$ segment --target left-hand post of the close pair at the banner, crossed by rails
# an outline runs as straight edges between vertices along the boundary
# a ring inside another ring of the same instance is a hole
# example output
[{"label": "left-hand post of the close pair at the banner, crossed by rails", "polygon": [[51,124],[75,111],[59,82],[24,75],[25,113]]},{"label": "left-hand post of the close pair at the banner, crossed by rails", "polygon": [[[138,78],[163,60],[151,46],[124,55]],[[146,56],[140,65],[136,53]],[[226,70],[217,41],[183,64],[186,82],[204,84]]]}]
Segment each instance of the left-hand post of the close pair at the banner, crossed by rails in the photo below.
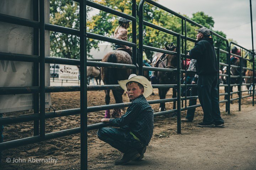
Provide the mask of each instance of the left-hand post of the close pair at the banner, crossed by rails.
[{"label": "left-hand post of the close pair at the banner, crossed by rails", "polygon": [[[38,16],[38,0],[33,1],[33,20],[39,21]],[[38,28],[33,29],[33,55],[39,55],[39,30]],[[33,86],[39,86],[39,64],[33,63]],[[33,109],[34,113],[39,113],[39,94],[33,94]],[[34,132],[33,135],[39,135],[39,120],[34,120]]]}]

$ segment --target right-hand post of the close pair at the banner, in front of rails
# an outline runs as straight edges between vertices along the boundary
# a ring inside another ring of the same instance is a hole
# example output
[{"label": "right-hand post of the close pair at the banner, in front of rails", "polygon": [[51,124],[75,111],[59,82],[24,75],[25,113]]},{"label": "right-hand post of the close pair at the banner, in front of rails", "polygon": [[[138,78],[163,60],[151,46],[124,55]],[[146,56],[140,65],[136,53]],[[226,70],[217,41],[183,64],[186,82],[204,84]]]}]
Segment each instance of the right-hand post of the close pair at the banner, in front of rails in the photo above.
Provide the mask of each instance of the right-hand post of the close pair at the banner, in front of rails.
[{"label": "right-hand post of the close pair at the banner, in front of rails", "polygon": [[45,54],[44,54],[44,0],[39,0],[40,28],[40,137],[45,137]]}]

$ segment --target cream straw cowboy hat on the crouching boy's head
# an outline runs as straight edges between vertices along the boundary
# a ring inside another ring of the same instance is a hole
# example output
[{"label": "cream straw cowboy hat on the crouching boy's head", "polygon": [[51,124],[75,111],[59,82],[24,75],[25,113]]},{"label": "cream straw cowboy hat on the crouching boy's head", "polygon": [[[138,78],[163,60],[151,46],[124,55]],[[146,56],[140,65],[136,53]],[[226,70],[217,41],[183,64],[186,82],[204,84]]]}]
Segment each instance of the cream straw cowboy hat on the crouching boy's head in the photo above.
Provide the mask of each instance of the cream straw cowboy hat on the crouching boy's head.
[{"label": "cream straw cowboy hat on the crouching boy's head", "polygon": [[147,98],[153,93],[153,87],[151,86],[149,80],[141,75],[131,74],[127,80],[119,80],[118,84],[121,86],[121,88],[124,91],[127,91],[126,84],[130,81],[135,81],[137,83],[140,83],[144,87],[144,93],[143,96]]}]

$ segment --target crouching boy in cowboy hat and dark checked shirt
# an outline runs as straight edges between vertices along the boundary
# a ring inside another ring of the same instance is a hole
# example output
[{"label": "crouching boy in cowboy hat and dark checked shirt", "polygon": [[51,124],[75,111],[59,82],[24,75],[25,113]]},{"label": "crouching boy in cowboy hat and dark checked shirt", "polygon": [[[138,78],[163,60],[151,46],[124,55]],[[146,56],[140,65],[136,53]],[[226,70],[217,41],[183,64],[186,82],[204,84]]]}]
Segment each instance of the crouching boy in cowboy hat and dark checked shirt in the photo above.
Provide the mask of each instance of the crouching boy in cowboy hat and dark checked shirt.
[{"label": "crouching boy in cowboy hat and dark checked shirt", "polygon": [[116,165],[125,165],[132,160],[138,161],[144,157],[146,146],[153,135],[154,111],[146,101],[153,92],[148,79],[131,74],[128,80],[120,80],[118,84],[132,100],[127,112],[120,118],[101,119],[101,122],[121,128],[101,128],[97,132],[100,140],[124,153]]}]

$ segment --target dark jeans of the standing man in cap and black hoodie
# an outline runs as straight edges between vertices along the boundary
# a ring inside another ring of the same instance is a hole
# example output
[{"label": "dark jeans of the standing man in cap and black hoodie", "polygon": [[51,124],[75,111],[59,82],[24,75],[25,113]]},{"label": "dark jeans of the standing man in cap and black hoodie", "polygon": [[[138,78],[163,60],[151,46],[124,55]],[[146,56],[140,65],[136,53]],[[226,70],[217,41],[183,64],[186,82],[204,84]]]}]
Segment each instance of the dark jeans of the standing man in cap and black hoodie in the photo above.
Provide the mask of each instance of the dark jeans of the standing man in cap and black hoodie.
[{"label": "dark jeans of the standing man in cap and black hoodie", "polygon": [[220,117],[217,84],[217,75],[199,75],[198,77],[198,98],[203,108],[205,123],[224,123]]}]

